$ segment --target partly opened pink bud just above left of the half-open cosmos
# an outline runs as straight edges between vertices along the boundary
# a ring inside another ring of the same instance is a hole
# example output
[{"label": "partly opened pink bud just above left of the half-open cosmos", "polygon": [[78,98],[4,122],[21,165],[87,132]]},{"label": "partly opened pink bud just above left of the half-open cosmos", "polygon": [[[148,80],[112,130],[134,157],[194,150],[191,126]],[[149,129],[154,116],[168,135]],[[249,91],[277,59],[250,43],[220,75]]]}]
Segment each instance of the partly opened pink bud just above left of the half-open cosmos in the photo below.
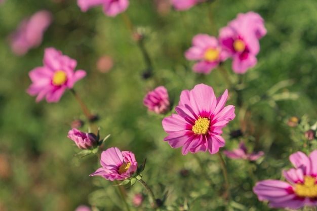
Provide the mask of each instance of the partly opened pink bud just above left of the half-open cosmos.
[{"label": "partly opened pink bud just above left of the half-open cosmos", "polygon": [[78,148],[89,149],[98,144],[98,140],[93,133],[83,133],[77,129],[72,129],[68,132],[68,138],[73,140]]}]

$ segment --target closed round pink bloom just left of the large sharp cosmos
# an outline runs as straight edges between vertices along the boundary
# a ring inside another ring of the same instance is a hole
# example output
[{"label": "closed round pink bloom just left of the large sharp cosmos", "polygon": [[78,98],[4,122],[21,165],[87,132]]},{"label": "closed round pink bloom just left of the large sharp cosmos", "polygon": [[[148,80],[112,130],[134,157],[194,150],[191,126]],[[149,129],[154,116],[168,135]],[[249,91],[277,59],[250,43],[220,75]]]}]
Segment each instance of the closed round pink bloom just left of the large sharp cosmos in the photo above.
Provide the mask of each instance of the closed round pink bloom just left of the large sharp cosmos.
[{"label": "closed round pink bloom just left of the large sharp cosmos", "polygon": [[165,87],[160,86],[147,93],[143,99],[143,104],[149,111],[157,114],[166,113],[170,109],[169,94]]}]

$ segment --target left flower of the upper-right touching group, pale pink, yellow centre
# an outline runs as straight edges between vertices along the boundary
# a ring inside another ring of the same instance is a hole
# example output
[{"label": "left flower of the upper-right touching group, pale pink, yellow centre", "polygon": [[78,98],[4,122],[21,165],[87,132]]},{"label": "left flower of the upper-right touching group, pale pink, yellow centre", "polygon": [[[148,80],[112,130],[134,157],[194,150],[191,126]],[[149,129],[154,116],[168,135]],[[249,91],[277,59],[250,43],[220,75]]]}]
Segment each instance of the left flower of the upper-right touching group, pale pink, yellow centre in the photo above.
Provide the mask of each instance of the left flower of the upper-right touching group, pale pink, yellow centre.
[{"label": "left flower of the upper-right touching group, pale pink, yellow centre", "polygon": [[208,74],[228,58],[228,53],[221,51],[218,40],[208,34],[197,34],[192,38],[192,47],[185,52],[188,60],[199,60],[192,67],[193,71]]}]

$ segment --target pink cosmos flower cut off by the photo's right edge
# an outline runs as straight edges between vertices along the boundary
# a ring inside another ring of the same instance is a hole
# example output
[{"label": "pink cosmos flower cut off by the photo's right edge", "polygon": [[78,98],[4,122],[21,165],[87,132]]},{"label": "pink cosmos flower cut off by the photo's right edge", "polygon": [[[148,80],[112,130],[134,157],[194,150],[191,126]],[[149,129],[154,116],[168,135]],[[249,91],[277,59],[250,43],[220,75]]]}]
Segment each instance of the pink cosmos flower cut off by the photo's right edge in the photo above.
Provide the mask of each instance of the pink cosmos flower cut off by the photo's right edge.
[{"label": "pink cosmos flower cut off by the photo's right edge", "polygon": [[269,201],[274,208],[299,209],[304,206],[317,206],[317,150],[309,157],[303,152],[291,154],[290,161],[295,166],[283,171],[287,182],[264,180],[257,182],[253,192],[260,201]]}]

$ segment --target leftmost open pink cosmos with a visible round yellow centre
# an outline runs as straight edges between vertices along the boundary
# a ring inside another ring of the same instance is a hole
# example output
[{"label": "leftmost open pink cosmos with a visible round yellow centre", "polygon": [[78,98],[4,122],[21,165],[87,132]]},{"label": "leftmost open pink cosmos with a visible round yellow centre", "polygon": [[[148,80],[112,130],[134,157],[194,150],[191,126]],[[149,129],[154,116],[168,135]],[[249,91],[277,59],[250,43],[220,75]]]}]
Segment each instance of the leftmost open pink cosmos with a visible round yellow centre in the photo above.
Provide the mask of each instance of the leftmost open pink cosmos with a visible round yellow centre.
[{"label": "leftmost open pink cosmos with a visible round yellow centre", "polygon": [[72,89],[77,80],[86,76],[84,70],[74,68],[76,60],[62,55],[54,48],[45,49],[43,67],[35,67],[29,72],[32,84],[27,89],[27,93],[36,97],[36,102],[43,100],[58,102],[66,89]]}]

